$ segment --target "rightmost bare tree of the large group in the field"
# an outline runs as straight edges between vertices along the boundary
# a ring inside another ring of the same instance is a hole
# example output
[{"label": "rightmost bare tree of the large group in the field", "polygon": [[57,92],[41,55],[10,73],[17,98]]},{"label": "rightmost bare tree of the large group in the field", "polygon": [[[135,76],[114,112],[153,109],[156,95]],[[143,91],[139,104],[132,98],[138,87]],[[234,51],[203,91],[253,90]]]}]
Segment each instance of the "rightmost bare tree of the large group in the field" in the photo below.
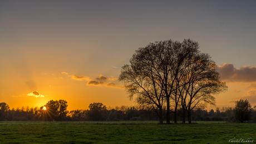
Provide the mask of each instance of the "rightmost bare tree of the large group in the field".
[{"label": "rightmost bare tree of the large group in the field", "polygon": [[179,90],[181,105],[188,112],[189,123],[191,123],[191,111],[195,107],[215,105],[213,95],[227,90],[225,82],[220,81],[219,73],[216,71],[217,66],[209,54],[197,53],[190,61],[181,82],[183,87]]}]

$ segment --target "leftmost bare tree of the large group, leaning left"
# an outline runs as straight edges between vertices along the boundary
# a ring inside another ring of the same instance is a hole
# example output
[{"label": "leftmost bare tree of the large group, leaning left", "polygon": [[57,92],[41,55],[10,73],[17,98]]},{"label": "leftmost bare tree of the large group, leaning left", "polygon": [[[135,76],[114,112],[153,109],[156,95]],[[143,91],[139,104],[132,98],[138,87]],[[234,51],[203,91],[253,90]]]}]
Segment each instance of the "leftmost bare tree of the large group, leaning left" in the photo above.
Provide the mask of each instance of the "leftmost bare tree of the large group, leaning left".
[{"label": "leftmost bare tree of the large group, leaning left", "polygon": [[157,115],[159,116],[160,123],[163,123],[163,90],[155,80],[152,71],[149,71],[151,72],[151,76],[145,76],[136,66],[139,65],[136,65],[132,61],[131,66],[127,64],[123,66],[119,81],[125,82],[125,88],[130,94],[130,100],[132,100],[134,95],[137,95],[135,101],[139,103],[140,106],[154,108],[155,111],[157,107],[159,110]]}]

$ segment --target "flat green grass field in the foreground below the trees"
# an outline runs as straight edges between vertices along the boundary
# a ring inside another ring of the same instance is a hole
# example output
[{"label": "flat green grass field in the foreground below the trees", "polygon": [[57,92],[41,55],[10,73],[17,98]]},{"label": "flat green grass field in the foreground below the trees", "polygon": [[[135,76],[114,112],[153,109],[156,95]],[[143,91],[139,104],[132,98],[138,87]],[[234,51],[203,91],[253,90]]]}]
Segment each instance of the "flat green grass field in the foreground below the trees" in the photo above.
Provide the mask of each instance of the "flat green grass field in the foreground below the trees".
[{"label": "flat green grass field in the foreground below the trees", "polygon": [[255,143],[255,129],[225,122],[0,122],[0,143]]}]

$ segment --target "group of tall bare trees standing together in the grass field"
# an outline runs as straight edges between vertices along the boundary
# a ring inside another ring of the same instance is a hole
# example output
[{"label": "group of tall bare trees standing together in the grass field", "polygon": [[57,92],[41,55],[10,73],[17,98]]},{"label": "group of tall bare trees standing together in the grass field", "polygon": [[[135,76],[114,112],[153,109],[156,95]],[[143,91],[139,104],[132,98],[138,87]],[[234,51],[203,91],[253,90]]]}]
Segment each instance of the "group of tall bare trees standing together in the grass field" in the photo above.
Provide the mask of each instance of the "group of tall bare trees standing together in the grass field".
[{"label": "group of tall bare trees standing together in the grass field", "polygon": [[191,39],[160,41],[137,49],[121,69],[119,81],[132,99],[140,106],[157,112],[163,123],[163,108],[166,108],[166,123],[170,112],[183,109],[183,123],[191,123],[191,111],[196,107],[215,105],[214,95],[227,90],[220,81],[216,64],[209,54],[199,51],[198,42]]}]

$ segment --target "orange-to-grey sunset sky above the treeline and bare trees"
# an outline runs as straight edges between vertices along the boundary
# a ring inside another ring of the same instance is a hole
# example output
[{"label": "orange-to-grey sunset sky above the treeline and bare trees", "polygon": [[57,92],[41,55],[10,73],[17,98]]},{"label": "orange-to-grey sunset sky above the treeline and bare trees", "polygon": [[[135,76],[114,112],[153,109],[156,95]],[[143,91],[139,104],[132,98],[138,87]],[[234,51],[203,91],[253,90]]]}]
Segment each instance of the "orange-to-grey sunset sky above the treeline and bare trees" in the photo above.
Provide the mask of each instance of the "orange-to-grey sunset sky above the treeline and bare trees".
[{"label": "orange-to-grey sunset sky above the treeline and bare trees", "polygon": [[0,102],[133,106],[121,67],[150,42],[193,39],[228,91],[216,107],[256,105],[256,1],[0,1]]}]

